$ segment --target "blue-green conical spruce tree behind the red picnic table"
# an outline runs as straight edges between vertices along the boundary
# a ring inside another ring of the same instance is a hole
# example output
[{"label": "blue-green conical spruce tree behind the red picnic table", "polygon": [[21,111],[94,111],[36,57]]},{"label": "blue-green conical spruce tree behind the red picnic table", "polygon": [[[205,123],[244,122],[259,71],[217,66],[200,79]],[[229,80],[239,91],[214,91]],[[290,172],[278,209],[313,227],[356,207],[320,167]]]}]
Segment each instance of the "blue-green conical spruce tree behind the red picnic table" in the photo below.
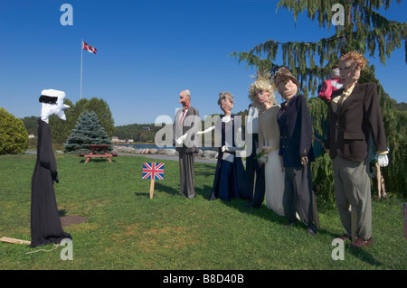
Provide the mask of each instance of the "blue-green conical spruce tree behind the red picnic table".
[{"label": "blue-green conical spruce tree behind the red picnic table", "polygon": [[91,111],[85,110],[79,117],[75,128],[65,144],[65,153],[90,153],[89,144],[109,144],[108,152],[112,146],[105,129],[99,124],[99,118]]}]

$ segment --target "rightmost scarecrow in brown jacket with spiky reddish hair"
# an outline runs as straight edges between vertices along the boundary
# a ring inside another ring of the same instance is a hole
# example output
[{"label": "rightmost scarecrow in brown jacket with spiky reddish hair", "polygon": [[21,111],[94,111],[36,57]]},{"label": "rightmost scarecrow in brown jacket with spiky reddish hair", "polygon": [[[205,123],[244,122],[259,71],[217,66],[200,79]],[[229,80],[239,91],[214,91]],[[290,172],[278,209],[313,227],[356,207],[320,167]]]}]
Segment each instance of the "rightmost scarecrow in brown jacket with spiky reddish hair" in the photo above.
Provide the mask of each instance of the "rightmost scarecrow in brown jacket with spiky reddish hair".
[{"label": "rightmost scarecrow in brown jacket with spiky reddish hair", "polygon": [[387,144],[382,113],[374,83],[359,84],[360,72],[367,60],[356,51],[343,55],[339,70],[344,87],[333,92],[329,105],[326,149],[335,176],[336,206],[345,235],[351,239],[351,213],[356,212],[356,240],[351,246],[373,243],[372,203],[369,178],[368,142],[372,135],[378,163],[387,166]]}]

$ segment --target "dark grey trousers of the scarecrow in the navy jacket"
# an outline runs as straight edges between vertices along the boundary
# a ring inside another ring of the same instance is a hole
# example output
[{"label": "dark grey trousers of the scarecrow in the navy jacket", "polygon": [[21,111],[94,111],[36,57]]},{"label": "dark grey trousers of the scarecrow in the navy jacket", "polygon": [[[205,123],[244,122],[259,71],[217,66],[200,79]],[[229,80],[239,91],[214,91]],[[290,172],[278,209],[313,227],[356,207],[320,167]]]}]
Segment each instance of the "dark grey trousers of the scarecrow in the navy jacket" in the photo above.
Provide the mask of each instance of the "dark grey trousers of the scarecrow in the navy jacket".
[{"label": "dark grey trousers of the scarecrow in the navy jacket", "polygon": [[297,221],[296,211],[305,225],[312,225],[312,174],[311,165],[285,167],[283,206],[289,222]]}]

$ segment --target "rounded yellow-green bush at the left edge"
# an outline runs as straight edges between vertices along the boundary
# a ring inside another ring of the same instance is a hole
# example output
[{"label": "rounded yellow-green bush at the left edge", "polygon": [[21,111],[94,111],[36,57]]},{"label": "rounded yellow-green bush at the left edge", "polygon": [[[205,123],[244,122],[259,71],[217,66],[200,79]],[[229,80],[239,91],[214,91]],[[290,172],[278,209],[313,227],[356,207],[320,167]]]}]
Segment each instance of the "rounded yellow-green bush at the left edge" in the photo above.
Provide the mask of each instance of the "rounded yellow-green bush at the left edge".
[{"label": "rounded yellow-green bush at the left edge", "polygon": [[23,120],[0,107],[0,154],[24,153],[28,146],[28,133]]}]

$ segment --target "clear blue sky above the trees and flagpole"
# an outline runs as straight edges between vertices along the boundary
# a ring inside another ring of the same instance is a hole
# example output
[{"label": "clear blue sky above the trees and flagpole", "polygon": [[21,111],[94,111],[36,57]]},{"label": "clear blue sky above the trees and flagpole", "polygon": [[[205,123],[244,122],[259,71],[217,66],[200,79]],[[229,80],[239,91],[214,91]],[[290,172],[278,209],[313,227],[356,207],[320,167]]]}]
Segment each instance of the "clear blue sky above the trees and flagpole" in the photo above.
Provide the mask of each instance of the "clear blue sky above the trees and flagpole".
[{"label": "clear blue sky above the trees and flagpole", "polygon": [[[73,25],[63,26],[62,4],[73,8]],[[83,51],[82,98],[103,98],[115,125],[154,123],[174,117],[178,95],[192,93],[202,118],[221,113],[218,94],[230,91],[232,112],[250,104],[254,70],[229,57],[267,40],[317,41],[333,30],[319,28],[306,15],[295,25],[278,1],[264,0],[41,0],[0,2],[0,107],[17,117],[40,116],[45,88],[80,99],[80,42]],[[406,1],[383,12],[405,22]],[[383,66],[369,61],[376,77],[398,102],[407,101],[402,49]],[[278,63],[281,64],[281,63]]]}]

